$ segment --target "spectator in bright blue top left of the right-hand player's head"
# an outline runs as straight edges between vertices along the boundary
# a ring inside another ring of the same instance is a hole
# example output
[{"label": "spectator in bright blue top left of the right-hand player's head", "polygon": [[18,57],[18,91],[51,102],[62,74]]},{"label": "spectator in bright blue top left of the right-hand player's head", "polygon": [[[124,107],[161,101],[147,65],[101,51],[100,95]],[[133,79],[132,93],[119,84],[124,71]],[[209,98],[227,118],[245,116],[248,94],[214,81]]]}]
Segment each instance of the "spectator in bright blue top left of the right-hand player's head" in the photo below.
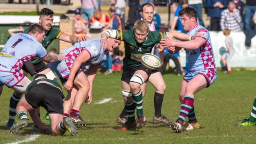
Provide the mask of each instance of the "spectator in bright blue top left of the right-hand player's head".
[{"label": "spectator in bright blue top left of the right-hand player's head", "polygon": [[171,5],[171,10],[174,13],[174,19],[173,19],[172,24],[171,24],[171,30],[175,30],[177,22],[178,22],[178,29],[177,30],[179,30],[179,31],[184,30],[183,26],[181,24],[180,16],[179,16],[179,12],[180,12],[181,9],[182,9],[182,7],[179,6],[178,3],[173,3]]}]

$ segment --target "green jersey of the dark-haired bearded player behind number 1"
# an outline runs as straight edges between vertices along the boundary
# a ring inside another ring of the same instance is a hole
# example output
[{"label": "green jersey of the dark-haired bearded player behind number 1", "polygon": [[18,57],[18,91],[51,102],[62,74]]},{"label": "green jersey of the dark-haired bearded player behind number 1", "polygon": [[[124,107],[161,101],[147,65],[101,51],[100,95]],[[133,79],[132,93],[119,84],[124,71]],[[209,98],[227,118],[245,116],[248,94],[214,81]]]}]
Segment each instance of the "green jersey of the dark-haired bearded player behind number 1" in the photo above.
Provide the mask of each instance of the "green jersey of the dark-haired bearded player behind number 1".
[{"label": "green jersey of the dark-haired bearded player behind number 1", "polygon": [[[28,34],[29,28],[27,28],[24,33]],[[55,39],[58,39],[60,35],[63,34],[63,32],[57,28],[51,28],[48,32],[46,32],[44,36],[44,40],[41,42],[41,44],[44,46],[45,49],[51,44],[51,42]],[[33,64],[38,64],[42,62],[40,58],[35,58],[31,60]]]}]

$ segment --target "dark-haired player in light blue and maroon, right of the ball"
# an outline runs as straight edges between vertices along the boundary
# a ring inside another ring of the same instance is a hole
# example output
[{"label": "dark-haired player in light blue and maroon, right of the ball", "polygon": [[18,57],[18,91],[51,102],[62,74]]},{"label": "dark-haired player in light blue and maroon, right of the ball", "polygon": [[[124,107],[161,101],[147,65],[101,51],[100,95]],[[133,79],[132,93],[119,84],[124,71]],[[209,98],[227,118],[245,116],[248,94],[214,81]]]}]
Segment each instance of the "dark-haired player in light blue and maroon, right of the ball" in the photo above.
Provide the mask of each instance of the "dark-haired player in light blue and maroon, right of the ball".
[{"label": "dark-haired player in light blue and maroon, right of the ball", "polygon": [[[217,78],[215,57],[212,48],[209,31],[197,23],[197,12],[194,8],[186,7],[180,10],[179,16],[185,34],[196,36],[191,41],[174,41],[163,39],[160,43],[170,52],[177,53],[184,48],[190,63],[190,69],[184,76],[180,89],[180,114],[174,124],[170,125],[172,130],[182,132],[184,130],[194,130],[200,128],[200,124],[194,113],[194,94],[203,88],[209,87]],[[188,116],[188,122],[184,125],[184,120]]]}]

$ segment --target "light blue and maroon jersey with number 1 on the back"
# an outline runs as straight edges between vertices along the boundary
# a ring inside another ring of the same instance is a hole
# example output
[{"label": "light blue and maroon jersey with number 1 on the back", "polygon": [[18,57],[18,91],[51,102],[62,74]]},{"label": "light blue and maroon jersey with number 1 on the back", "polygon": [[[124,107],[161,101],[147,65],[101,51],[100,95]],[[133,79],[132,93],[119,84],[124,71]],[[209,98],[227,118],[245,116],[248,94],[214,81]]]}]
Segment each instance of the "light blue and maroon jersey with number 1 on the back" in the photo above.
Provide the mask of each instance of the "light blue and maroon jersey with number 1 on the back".
[{"label": "light blue and maroon jersey with number 1 on the back", "polygon": [[0,71],[16,72],[34,57],[44,58],[45,48],[30,34],[14,34],[0,52]]}]

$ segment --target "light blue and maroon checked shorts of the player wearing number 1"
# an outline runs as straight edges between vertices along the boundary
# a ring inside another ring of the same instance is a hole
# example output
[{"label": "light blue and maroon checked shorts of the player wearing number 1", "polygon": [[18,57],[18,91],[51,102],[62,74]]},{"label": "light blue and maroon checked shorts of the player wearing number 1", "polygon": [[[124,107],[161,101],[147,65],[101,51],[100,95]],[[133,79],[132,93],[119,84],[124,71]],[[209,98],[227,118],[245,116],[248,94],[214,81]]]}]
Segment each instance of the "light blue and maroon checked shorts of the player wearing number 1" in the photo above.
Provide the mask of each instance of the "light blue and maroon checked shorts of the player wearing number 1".
[{"label": "light blue and maroon checked shorts of the player wearing number 1", "polygon": [[0,71],[0,85],[6,85],[16,92],[25,92],[31,81],[20,71],[5,72]]}]

